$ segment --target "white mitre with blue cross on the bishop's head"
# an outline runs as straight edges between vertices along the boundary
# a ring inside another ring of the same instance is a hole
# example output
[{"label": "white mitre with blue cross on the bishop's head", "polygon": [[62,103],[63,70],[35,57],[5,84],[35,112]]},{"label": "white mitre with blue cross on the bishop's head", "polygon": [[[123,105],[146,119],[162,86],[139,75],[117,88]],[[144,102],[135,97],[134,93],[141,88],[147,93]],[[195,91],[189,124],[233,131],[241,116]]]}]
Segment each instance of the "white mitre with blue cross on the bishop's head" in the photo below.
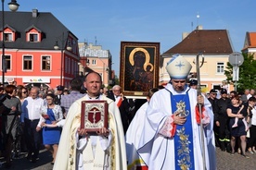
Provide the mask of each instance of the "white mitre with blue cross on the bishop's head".
[{"label": "white mitre with blue cross on the bishop's head", "polygon": [[173,55],[165,68],[171,79],[186,79],[192,66],[182,55]]}]

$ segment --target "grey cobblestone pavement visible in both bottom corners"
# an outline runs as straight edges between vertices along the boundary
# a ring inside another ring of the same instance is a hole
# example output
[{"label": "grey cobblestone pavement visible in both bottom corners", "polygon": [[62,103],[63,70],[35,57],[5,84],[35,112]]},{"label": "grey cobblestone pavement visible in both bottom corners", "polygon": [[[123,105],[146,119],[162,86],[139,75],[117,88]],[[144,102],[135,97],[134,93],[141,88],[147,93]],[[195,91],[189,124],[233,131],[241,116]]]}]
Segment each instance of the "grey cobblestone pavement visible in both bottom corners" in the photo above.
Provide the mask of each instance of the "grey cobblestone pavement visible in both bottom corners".
[{"label": "grey cobblestone pavement visible in both bottom corners", "polygon": [[[235,155],[231,155],[228,152],[222,152],[219,148],[216,148],[216,160],[218,170],[254,170],[256,169],[256,154],[247,153],[250,158],[244,158],[237,152]],[[39,154],[40,160],[36,163],[30,163],[25,155],[21,156],[19,159],[14,159],[12,161],[11,170],[51,170],[53,165],[50,164],[52,157],[50,152],[42,150]],[[0,161],[3,162],[4,158]],[[6,169],[4,167],[0,169]]]}]

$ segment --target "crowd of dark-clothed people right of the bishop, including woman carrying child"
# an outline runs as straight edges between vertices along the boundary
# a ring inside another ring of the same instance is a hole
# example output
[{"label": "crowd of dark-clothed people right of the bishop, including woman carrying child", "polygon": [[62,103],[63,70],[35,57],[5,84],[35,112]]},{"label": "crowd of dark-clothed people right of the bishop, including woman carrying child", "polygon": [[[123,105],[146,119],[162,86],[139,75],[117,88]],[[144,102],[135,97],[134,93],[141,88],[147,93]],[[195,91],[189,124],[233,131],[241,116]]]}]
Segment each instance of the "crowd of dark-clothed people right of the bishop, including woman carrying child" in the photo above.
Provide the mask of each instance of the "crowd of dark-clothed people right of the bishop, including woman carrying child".
[{"label": "crowd of dark-clothed people right of the bishop, including woman carrying child", "polygon": [[[220,94],[220,97],[216,97]],[[211,90],[209,101],[214,113],[215,145],[223,152],[235,152],[245,158],[256,153],[256,95],[253,89],[242,92]]]}]

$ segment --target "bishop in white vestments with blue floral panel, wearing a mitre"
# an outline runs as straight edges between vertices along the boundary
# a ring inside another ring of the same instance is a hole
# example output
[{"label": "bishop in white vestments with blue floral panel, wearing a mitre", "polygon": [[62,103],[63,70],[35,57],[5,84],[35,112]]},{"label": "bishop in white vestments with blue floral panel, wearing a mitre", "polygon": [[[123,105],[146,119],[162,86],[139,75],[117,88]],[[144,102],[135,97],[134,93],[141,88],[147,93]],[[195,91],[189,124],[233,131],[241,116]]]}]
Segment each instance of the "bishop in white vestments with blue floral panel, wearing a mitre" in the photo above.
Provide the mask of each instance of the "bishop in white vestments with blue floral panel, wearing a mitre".
[{"label": "bishop in white vestments with blue floral panel, wearing a mitre", "polygon": [[[147,106],[138,153],[149,170],[216,169],[211,103],[187,86],[191,67],[181,55],[173,55],[166,67],[170,83],[157,91]],[[202,105],[201,118],[198,103]]]}]

